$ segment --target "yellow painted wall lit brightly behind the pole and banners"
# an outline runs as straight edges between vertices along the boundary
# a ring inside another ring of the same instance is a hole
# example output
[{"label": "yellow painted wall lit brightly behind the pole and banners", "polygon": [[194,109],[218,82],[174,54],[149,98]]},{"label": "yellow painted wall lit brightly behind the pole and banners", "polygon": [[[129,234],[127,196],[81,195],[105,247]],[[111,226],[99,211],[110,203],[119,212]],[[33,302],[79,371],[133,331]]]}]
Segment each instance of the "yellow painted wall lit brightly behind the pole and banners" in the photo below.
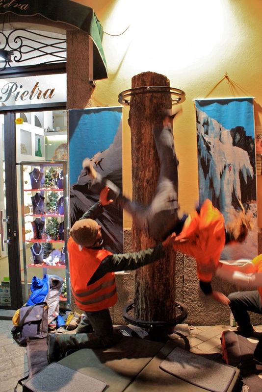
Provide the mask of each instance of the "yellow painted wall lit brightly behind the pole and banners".
[{"label": "yellow painted wall lit brightly behind the pole and banners", "polygon": [[[131,88],[132,76],[147,71],[166,75],[171,87],[185,92],[183,115],[174,121],[174,139],[180,161],[179,202],[183,211],[190,211],[198,201],[193,100],[255,97],[255,125],[262,125],[262,0],[77,2],[94,9],[105,31],[109,78],[97,81],[93,106],[119,105],[118,94]],[[226,73],[233,88],[224,78]],[[131,196],[128,116],[129,107],[124,106],[123,189]],[[262,176],[258,176],[258,207],[262,227]],[[124,225],[131,227],[128,216]]]}]

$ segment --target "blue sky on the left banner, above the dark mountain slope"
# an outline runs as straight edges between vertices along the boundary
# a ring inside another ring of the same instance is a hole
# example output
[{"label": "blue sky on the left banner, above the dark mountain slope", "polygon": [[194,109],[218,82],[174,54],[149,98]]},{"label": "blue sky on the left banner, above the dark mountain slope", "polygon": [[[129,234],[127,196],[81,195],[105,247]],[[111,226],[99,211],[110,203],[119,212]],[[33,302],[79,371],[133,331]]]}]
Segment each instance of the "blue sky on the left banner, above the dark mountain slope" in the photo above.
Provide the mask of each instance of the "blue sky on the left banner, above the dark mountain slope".
[{"label": "blue sky on the left banner, above the dark mountain slope", "polygon": [[108,148],[122,118],[122,106],[69,110],[70,184],[78,180],[84,158]]}]

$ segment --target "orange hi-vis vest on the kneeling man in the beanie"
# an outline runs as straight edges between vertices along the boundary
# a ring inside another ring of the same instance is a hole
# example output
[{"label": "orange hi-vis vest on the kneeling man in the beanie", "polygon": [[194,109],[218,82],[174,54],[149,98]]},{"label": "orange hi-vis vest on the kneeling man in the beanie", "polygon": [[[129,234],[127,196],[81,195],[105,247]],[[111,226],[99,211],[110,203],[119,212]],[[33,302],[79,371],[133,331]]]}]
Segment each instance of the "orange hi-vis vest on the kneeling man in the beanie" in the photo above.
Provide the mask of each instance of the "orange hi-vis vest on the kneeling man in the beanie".
[{"label": "orange hi-vis vest on the kneeling man in the beanie", "polygon": [[115,305],[117,301],[115,274],[106,273],[101,279],[87,283],[106,256],[112,254],[105,249],[91,249],[79,245],[72,237],[67,243],[71,289],[79,309],[95,312]]}]

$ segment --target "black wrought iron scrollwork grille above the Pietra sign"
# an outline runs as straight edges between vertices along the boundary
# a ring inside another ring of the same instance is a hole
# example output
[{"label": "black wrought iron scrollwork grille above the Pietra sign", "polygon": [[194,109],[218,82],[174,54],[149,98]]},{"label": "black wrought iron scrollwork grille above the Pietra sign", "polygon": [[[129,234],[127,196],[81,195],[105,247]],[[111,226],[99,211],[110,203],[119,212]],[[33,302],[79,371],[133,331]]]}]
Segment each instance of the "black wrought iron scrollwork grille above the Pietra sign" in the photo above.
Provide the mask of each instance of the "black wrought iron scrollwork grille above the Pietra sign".
[{"label": "black wrought iron scrollwork grille above the Pietra sign", "polygon": [[0,72],[21,65],[52,64],[66,61],[66,35],[16,29],[0,32],[0,50],[9,52],[0,59]]}]

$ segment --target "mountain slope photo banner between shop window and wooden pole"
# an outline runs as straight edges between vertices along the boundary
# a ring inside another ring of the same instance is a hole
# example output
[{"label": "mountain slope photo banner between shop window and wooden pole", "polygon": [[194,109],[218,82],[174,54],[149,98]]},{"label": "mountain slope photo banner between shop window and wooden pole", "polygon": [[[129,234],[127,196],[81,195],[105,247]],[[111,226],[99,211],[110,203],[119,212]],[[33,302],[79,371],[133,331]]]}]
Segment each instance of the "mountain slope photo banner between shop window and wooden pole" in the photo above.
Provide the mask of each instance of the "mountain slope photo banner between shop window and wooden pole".
[{"label": "mountain slope photo banner between shop window and wooden pole", "polygon": [[[69,110],[69,185],[71,226],[97,201],[90,191],[91,177],[82,162],[90,158],[94,169],[122,191],[122,107]],[[123,253],[123,213],[106,206],[98,217],[105,248]]]}]

